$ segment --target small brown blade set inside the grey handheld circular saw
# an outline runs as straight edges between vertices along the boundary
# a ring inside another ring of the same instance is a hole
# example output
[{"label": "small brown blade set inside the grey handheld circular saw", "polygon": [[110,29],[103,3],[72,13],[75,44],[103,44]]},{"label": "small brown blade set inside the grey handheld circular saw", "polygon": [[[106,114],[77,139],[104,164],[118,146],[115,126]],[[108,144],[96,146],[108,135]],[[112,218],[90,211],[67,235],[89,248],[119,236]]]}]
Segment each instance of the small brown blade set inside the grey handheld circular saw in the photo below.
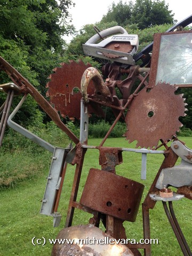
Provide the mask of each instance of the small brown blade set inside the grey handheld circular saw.
[{"label": "small brown blade set inside the grey handheld circular saw", "polygon": [[[105,49],[129,53],[133,50],[134,46],[130,42],[110,42],[105,46]],[[112,53],[102,52],[102,54],[108,58],[118,58],[119,56]]]}]

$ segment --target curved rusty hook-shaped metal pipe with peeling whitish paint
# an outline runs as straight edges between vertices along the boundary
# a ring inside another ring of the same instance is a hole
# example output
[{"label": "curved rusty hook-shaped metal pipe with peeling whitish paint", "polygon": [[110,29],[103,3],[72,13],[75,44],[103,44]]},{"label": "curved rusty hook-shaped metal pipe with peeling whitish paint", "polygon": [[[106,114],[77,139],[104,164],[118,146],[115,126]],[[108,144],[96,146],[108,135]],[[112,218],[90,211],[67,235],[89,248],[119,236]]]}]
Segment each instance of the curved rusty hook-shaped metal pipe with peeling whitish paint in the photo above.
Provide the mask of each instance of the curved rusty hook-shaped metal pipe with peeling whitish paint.
[{"label": "curved rusty hook-shaped metal pipe with peeling whitish paint", "polygon": [[99,74],[99,71],[96,68],[89,67],[84,71],[81,79],[81,93],[86,103],[89,102],[87,87],[91,80],[93,80],[95,87],[94,95],[97,95],[97,98],[105,99],[106,97],[110,97],[109,88],[107,87],[107,85],[104,84],[103,79]]}]

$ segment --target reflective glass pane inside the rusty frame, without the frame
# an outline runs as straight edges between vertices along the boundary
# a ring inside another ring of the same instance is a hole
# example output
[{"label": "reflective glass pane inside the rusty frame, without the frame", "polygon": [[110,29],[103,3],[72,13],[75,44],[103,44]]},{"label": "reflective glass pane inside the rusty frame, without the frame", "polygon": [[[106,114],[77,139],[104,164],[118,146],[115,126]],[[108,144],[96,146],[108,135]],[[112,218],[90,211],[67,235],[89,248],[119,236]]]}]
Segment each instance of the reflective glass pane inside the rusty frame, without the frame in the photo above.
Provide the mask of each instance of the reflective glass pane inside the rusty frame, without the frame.
[{"label": "reflective glass pane inside the rusty frame, without the frame", "polygon": [[156,84],[192,84],[192,34],[161,37]]}]

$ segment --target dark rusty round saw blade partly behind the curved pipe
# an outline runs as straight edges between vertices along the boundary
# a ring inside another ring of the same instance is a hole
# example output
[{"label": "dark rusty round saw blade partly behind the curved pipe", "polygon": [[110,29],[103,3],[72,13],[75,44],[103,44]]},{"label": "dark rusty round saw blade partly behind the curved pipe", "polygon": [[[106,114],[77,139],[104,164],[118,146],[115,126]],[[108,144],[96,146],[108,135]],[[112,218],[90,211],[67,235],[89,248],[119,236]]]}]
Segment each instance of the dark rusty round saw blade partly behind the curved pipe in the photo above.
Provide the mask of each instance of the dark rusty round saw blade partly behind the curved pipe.
[{"label": "dark rusty round saw blade partly behind the curved pipe", "polygon": [[[83,61],[61,63],[61,67],[54,68],[54,73],[48,78],[50,81],[46,84],[46,96],[50,98],[50,103],[60,112],[62,117],[68,116],[70,119],[81,117],[81,78],[84,71],[91,67],[90,64],[84,64]],[[87,93],[94,93],[94,85],[90,82]],[[94,109],[88,107],[89,113]]]}]

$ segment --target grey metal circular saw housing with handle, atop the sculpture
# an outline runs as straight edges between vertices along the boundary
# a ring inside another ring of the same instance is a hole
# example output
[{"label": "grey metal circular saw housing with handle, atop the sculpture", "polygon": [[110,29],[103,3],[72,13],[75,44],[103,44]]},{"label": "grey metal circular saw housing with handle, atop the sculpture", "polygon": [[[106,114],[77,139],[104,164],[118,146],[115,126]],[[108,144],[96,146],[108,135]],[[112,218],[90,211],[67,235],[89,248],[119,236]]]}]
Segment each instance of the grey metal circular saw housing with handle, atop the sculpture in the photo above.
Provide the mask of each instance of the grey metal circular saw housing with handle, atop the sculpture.
[{"label": "grey metal circular saw housing with handle, atop the sculpture", "polygon": [[[101,38],[105,39],[99,42]],[[118,43],[127,43],[127,45],[133,46],[132,51],[121,51],[121,47],[117,47],[117,49],[114,47],[114,50],[107,49],[107,45],[111,42],[115,45]],[[83,44],[83,51],[86,55],[91,55],[93,57],[135,65],[133,54],[137,52],[138,46],[138,35],[130,35],[121,26],[115,26],[102,30],[98,34],[92,36],[85,44]],[[107,57],[107,54],[113,55],[113,58]]]}]

